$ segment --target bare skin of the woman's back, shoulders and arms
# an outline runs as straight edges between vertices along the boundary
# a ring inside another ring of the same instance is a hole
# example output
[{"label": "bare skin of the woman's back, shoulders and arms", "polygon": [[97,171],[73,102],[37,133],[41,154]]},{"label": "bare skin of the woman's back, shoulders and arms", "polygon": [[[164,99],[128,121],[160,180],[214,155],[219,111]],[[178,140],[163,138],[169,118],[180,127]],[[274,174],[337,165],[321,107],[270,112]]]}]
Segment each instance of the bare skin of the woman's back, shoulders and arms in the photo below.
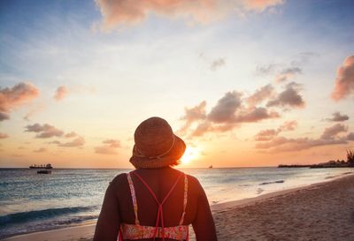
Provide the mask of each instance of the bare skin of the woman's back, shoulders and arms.
[{"label": "bare skin of the woman's back, shoulders and arms", "polygon": [[[165,198],[165,195],[181,175],[181,171],[172,168],[136,169],[135,171],[150,185],[159,201]],[[155,227],[158,203],[138,177],[135,175],[131,175],[131,177],[135,186],[140,224]],[[215,226],[204,190],[195,177],[188,176],[188,182],[188,202],[183,224],[193,225],[196,240],[215,241],[217,240]],[[183,191],[184,182],[183,178],[180,178],[163,206],[165,227],[179,225],[183,212]],[[115,225],[112,225],[112,222]],[[108,187],[101,215],[97,222],[94,240],[117,240],[118,228],[122,222],[135,224],[135,212],[127,182],[127,174],[120,174],[115,177]],[[110,232],[113,232],[114,235],[109,235]],[[101,237],[104,238],[101,239]],[[140,240],[151,240],[151,238]]]}]

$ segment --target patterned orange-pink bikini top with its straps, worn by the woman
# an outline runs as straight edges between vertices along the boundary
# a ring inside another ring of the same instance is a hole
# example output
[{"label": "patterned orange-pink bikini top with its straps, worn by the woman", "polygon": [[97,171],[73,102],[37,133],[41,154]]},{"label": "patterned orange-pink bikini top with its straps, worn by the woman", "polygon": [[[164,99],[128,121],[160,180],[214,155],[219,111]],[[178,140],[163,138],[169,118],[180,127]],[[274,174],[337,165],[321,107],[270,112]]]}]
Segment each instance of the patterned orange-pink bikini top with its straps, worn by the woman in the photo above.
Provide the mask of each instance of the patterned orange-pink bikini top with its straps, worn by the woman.
[{"label": "patterned orange-pink bikini top with its straps, worn by the woman", "polygon": [[[154,198],[154,200],[156,200],[158,204],[158,217],[156,220],[155,227],[140,225],[139,218],[138,218],[138,205],[136,201],[135,188],[133,185],[131,173],[133,173],[135,177],[138,177],[138,179],[142,181],[142,184],[148,189],[151,196]],[[183,197],[183,212],[181,214],[181,220],[178,226],[165,227],[163,206],[165,204],[165,201],[173,192],[175,186],[177,185],[178,181],[181,179],[182,176],[184,176],[184,197]],[[144,179],[142,179],[142,177],[138,175],[135,171],[127,173],[127,182],[129,184],[130,194],[133,200],[135,224],[121,223],[119,227],[119,240],[142,239],[142,238],[154,238],[153,240],[155,240],[156,237],[162,238],[163,241],[165,241],[165,238],[171,238],[175,240],[189,240],[189,226],[183,225],[184,216],[186,215],[186,207],[187,207],[187,200],[188,200],[188,178],[186,174],[181,173],[181,175],[174,182],[170,191],[166,194],[165,199],[162,200],[161,202],[158,200],[156,194],[150,188],[150,185],[148,185],[144,181]]]}]

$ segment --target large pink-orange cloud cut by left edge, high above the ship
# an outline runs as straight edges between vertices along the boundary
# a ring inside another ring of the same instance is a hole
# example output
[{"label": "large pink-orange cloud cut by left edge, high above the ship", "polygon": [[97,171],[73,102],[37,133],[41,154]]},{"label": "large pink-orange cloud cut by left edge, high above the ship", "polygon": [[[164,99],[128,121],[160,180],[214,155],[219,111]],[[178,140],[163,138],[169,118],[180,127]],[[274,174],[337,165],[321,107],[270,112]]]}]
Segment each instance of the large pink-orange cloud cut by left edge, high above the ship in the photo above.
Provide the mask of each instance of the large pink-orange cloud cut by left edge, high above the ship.
[{"label": "large pink-orange cloud cut by left edge, high above the ship", "polygon": [[21,82],[14,87],[0,87],[0,121],[9,119],[12,109],[35,99],[39,90],[31,83]]}]

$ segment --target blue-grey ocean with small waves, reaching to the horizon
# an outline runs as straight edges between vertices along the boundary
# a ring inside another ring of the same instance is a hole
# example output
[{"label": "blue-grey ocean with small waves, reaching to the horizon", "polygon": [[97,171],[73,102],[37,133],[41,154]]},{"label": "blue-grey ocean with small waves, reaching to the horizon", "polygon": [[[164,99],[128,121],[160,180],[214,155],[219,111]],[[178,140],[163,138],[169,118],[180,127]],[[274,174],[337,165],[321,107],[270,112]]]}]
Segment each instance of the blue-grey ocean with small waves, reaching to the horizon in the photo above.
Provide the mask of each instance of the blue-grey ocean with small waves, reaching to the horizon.
[{"label": "blue-grey ocean with small waves, reaching to the horizon", "polygon": [[[113,177],[131,169],[0,169],[0,238],[96,220]],[[182,169],[211,205],[330,180],[353,169]]]}]

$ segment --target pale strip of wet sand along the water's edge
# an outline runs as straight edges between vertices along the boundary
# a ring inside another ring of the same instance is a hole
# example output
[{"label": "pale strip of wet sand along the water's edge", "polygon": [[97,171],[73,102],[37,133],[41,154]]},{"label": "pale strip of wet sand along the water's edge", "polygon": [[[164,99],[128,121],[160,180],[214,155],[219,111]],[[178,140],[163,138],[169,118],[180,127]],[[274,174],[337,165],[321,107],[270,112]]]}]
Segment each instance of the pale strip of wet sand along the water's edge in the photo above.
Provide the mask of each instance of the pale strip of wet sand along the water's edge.
[{"label": "pale strip of wet sand along the water's edge", "polygon": [[[281,191],[268,192],[265,194],[261,194],[257,197],[247,198],[242,200],[230,200],[227,202],[217,203],[211,205],[212,214],[214,215],[214,219],[216,225],[218,226],[218,218],[215,218],[215,215],[224,214],[231,212],[235,209],[242,209],[245,207],[252,207],[256,205],[263,205],[269,200],[277,200],[282,197],[287,197],[289,195],[296,195],[297,192],[307,192],[311,190],[316,190],[321,188],[321,186],[326,184],[335,183],[336,181],[341,181],[346,178],[353,178],[353,172],[342,173],[342,175],[336,177],[330,177],[325,180],[320,181],[319,183],[311,184],[311,185],[301,185],[298,187],[293,187],[289,189],[284,189]],[[354,199],[354,196],[353,196]],[[90,220],[87,222],[81,222],[76,225],[70,225],[61,229],[54,230],[42,230],[38,232],[25,233],[20,235],[15,235],[12,237],[5,237],[1,240],[12,240],[12,241],[24,241],[24,240],[36,240],[36,241],[44,241],[44,240],[53,240],[53,241],[74,241],[74,240],[92,240],[93,234],[95,232],[96,220]],[[190,229],[192,230],[192,229]],[[190,237],[190,240],[194,240],[194,237]]]}]

